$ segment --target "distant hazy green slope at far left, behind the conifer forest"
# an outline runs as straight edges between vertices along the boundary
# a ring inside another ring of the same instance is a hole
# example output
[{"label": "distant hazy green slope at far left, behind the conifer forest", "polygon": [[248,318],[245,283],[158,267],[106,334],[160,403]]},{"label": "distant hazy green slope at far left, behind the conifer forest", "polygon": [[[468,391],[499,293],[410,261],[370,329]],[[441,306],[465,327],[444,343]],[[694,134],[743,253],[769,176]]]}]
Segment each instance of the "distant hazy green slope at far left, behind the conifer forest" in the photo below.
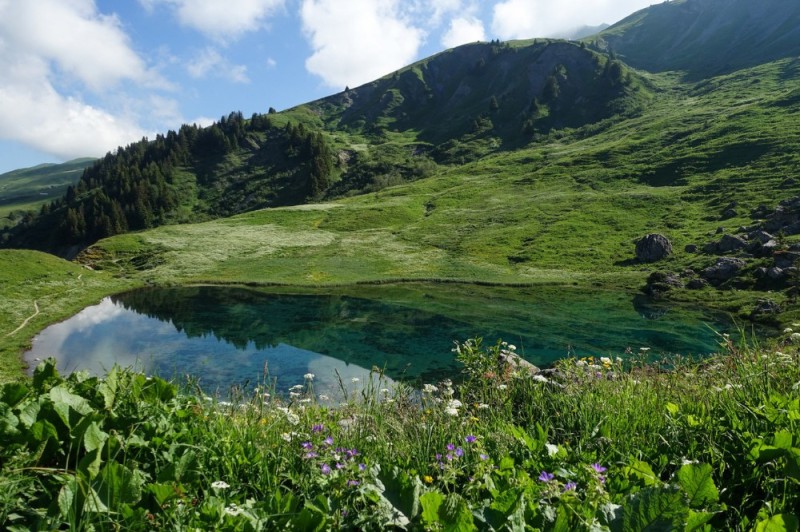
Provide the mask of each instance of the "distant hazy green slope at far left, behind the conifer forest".
[{"label": "distant hazy green slope at far left, behind the conifer forest", "polygon": [[93,161],[85,158],[62,164],[40,164],[0,175],[0,227],[12,225],[24,211],[62,196]]}]

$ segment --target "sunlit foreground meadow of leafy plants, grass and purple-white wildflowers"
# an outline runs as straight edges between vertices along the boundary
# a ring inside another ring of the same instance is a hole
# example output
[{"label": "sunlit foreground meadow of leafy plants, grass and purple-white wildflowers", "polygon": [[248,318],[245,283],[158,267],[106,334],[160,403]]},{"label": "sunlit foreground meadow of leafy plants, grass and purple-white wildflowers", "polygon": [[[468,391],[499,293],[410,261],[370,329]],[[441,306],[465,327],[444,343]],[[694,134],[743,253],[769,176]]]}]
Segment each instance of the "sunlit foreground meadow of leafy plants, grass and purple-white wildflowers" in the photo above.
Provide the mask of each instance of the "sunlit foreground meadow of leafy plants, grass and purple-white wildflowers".
[{"label": "sunlit foreground meadow of leafy plants, grass and purple-white wildflowers", "polygon": [[[789,335],[702,361],[456,347],[453,381],[210,398],[43,362],[0,395],[7,530],[797,530]],[[220,399],[225,399],[224,401]]]}]

